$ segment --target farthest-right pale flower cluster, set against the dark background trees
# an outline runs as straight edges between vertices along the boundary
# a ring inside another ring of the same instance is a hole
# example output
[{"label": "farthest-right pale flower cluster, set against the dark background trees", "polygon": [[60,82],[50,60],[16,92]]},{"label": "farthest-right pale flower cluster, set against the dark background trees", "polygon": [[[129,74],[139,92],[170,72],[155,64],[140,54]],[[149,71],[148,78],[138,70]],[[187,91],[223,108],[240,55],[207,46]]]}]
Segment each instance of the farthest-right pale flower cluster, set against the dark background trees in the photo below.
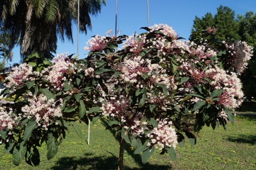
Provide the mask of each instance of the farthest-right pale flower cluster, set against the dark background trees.
[{"label": "farthest-right pale flower cluster, set against the dark background trees", "polygon": [[226,47],[228,64],[231,64],[231,71],[241,74],[246,66],[247,61],[253,56],[253,48],[246,42],[235,41],[233,44],[223,42]]}]

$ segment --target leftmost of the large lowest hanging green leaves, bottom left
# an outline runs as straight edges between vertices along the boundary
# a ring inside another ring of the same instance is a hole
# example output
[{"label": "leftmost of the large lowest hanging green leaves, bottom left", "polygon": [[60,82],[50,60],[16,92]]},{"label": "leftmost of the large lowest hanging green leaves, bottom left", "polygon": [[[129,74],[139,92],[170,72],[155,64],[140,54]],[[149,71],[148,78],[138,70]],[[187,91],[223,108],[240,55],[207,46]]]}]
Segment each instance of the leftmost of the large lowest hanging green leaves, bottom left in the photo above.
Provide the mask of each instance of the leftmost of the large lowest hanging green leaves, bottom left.
[{"label": "leftmost of the large lowest hanging green leaves, bottom left", "polygon": [[21,160],[25,156],[25,153],[27,151],[27,146],[25,145],[25,141],[22,141],[21,143],[17,144],[13,149],[13,164],[19,165],[21,163]]}]

